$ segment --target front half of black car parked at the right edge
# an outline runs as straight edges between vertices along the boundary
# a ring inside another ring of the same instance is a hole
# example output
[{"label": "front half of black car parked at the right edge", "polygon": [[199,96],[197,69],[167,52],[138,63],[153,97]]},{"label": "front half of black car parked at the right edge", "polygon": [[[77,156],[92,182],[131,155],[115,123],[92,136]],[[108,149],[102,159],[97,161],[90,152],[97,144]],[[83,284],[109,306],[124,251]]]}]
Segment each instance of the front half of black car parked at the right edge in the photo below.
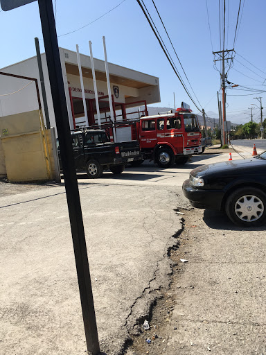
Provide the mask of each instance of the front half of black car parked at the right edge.
[{"label": "front half of black car parked at the right edge", "polygon": [[266,219],[266,151],[251,159],[200,166],[183,193],[193,207],[226,211],[233,223],[251,227]]}]

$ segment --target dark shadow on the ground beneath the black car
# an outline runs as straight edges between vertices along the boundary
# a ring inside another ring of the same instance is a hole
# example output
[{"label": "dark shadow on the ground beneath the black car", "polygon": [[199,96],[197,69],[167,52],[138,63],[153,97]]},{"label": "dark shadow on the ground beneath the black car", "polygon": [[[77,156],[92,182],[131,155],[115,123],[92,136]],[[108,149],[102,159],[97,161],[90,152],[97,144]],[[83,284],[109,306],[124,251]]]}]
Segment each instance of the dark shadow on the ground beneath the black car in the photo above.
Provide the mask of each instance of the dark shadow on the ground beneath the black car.
[{"label": "dark shadow on the ground beneath the black car", "polygon": [[238,227],[238,225],[234,225],[233,222],[231,222],[225,212],[212,211],[210,209],[205,209],[203,220],[206,225],[213,230],[247,230],[251,232],[265,230],[265,225],[260,227]]}]

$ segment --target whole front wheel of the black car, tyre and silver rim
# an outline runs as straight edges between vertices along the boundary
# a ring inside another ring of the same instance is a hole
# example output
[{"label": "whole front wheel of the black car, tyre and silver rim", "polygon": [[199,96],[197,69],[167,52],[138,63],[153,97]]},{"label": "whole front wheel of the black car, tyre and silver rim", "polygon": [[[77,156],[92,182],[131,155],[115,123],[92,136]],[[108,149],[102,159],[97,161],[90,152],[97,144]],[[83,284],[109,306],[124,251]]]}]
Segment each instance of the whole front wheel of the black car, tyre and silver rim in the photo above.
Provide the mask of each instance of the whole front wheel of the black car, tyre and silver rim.
[{"label": "whole front wheel of the black car, tyre and silver rim", "polygon": [[227,198],[225,211],[236,225],[262,225],[266,219],[266,194],[255,187],[242,187]]}]

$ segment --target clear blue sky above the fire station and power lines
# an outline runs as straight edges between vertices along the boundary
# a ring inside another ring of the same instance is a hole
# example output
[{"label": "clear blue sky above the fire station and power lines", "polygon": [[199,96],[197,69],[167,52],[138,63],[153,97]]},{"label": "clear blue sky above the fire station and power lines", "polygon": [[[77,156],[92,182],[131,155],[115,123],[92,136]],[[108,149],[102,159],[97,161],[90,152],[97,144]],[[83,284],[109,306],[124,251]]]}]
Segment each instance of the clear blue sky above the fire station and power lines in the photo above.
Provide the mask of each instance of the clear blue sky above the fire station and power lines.
[{"label": "clear blue sky above the fire station and power lines", "polygon": [[[221,49],[219,3],[224,6],[224,0],[143,2],[197,107],[203,107],[209,116],[217,118],[217,92],[221,92],[218,71],[220,62],[216,62],[215,68],[213,51]],[[233,84],[242,85],[227,88],[227,120],[247,123],[250,121],[249,107],[254,107],[254,121],[258,122],[260,110],[256,105],[260,106],[260,103],[254,97],[261,96],[266,107],[265,92],[259,92],[266,89],[266,1],[225,0],[225,6],[225,32],[223,34],[222,27],[221,33],[222,40],[224,35],[224,49],[233,49],[235,42],[236,51],[231,52],[234,59],[233,62],[229,60],[231,68],[227,79]],[[184,101],[193,112],[199,113],[173,71],[136,0],[53,0],[53,8],[59,46],[76,51],[78,44],[80,53],[89,55],[90,40],[94,58],[104,60],[104,35],[109,62],[159,77],[161,103],[155,106],[174,107],[175,92],[176,107]],[[36,55],[35,37],[39,37],[41,52],[44,52],[37,1],[8,12],[2,10],[0,31],[0,68]],[[246,88],[258,91],[243,91]],[[266,114],[266,110],[264,112]]]}]

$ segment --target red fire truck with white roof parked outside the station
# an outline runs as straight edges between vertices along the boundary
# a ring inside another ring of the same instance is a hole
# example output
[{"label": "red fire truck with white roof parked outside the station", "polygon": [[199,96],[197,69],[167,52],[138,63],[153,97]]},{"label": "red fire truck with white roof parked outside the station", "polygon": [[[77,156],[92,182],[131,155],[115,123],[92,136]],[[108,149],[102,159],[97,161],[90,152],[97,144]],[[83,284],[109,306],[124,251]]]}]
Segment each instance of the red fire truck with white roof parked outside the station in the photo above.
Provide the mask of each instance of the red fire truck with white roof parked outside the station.
[{"label": "red fire truck with white roof parked outside the station", "polygon": [[191,155],[202,152],[199,123],[191,112],[186,103],[181,103],[175,112],[116,121],[113,130],[117,141],[139,141],[143,159],[131,162],[132,165],[149,159],[162,168],[168,168],[172,164],[184,164]]}]

